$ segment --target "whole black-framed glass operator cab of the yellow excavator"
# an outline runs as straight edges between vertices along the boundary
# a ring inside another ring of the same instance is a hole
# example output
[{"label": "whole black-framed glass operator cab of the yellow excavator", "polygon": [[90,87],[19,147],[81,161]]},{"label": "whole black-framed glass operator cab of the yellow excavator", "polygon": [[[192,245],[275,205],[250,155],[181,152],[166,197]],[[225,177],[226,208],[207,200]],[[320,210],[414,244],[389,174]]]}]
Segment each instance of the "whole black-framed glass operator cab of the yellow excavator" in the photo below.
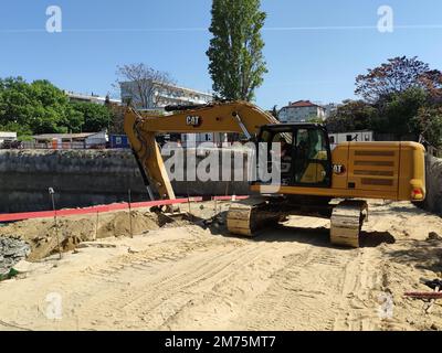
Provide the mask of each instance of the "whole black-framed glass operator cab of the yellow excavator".
[{"label": "whole black-framed glass operator cab of the yellow excavator", "polygon": [[[332,151],[327,130],[323,126],[317,124],[266,125],[260,130],[257,143],[267,143],[269,172],[273,168],[275,157],[276,160],[281,158],[282,185],[330,188]],[[281,150],[275,151],[273,143],[280,143]],[[259,148],[260,146],[256,150]]]}]

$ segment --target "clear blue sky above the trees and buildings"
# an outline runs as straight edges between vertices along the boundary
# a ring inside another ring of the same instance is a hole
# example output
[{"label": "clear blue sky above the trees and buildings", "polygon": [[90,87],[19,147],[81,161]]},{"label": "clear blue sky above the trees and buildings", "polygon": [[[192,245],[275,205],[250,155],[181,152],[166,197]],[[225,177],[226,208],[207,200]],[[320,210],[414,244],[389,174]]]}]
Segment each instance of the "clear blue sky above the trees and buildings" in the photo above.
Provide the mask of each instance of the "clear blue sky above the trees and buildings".
[{"label": "clear blue sky above the trees and buildings", "polygon": [[[44,30],[53,4],[63,11],[62,33]],[[385,4],[394,11],[393,33],[376,30]],[[116,66],[144,62],[179,85],[209,90],[210,7],[210,0],[2,1],[0,77],[116,94]],[[440,0],[262,0],[262,9],[269,74],[256,103],[264,108],[352,98],[356,75],[397,55],[442,69]]]}]

